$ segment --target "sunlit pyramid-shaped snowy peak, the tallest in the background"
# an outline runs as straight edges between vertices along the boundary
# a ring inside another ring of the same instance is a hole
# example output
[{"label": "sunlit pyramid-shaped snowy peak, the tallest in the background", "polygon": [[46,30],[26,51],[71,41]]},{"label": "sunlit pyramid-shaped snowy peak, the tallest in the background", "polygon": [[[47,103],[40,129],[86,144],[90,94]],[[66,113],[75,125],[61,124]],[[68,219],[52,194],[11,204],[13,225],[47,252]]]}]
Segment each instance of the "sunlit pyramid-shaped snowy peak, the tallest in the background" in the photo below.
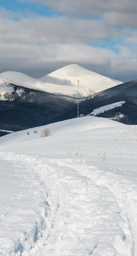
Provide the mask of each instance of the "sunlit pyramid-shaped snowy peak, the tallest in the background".
[{"label": "sunlit pyramid-shaped snowy peak, the tallest in the background", "polygon": [[[77,64],[67,65],[46,76],[40,78],[41,81],[55,83],[59,85],[69,85],[77,87],[78,80],[81,91],[89,90],[92,93],[100,92],[108,88],[121,84],[121,81],[102,76]],[[92,94],[91,93],[91,94]]]}]

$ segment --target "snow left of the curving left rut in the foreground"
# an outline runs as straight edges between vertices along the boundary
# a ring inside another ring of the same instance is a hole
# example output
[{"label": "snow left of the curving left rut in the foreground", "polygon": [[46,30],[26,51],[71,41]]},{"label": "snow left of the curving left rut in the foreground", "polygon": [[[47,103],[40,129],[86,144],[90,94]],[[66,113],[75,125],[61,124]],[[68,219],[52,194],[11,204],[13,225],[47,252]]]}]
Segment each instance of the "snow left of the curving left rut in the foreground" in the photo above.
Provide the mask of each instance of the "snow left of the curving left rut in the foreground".
[{"label": "snow left of the curving left rut in the foreground", "polygon": [[[21,255],[29,251],[47,228],[44,216],[49,211],[47,192],[37,173],[20,158],[0,155],[0,253]],[[3,193],[4,191],[4,193]]]}]

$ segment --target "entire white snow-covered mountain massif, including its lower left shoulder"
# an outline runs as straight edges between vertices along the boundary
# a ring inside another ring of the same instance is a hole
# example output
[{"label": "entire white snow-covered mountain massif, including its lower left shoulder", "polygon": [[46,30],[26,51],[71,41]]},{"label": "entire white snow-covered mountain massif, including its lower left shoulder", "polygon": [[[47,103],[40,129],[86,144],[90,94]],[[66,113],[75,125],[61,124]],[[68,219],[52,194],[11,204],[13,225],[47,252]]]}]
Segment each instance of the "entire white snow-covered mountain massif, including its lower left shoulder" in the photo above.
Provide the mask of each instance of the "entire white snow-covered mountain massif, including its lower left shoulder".
[{"label": "entire white snow-covered mountain massif, including its lower left shoulder", "polygon": [[83,98],[122,83],[121,81],[87,70],[77,64],[62,67],[40,79],[13,71],[2,72],[0,76],[23,87],[76,98],[78,96]]}]

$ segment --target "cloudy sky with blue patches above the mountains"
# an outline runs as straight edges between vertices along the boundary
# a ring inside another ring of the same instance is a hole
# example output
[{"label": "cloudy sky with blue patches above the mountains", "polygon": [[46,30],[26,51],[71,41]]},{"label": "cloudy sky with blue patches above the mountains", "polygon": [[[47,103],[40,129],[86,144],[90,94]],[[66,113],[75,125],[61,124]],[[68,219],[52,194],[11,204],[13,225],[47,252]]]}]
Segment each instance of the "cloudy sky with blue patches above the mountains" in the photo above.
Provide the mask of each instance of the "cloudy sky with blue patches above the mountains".
[{"label": "cloudy sky with blue patches above the mountains", "polygon": [[0,0],[0,73],[40,78],[78,64],[137,79],[136,0]]}]

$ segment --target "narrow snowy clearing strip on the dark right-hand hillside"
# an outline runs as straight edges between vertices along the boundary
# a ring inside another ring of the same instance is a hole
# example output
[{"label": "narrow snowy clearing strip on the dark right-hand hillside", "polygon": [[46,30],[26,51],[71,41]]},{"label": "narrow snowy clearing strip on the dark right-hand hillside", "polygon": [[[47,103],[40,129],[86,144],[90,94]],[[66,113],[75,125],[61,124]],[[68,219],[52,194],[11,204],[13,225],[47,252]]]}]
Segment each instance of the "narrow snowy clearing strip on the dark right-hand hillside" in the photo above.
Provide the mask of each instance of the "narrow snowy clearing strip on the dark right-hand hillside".
[{"label": "narrow snowy clearing strip on the dark right-hand hillside", "polygon": [[104,113],[105,111],[113,109],[113,108],[122,107],[122,105],[124,103],[125,103],[125,101],[118,101],[118,102],[115,102],[115,103],[111,103],[111,104],[102,106],[100,108],[95,108],[95,109],[93,109],[93,111],[89,115],[97,115],[99,113]]}]

